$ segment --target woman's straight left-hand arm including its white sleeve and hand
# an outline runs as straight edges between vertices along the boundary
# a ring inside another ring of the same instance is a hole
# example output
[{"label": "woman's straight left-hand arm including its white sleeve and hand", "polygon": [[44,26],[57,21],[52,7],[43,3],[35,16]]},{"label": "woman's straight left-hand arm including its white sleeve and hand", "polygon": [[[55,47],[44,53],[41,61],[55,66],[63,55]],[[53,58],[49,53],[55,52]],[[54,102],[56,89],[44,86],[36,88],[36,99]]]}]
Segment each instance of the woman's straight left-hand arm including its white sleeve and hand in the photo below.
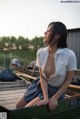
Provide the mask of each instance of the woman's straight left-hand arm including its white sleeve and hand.
[{"label": "woman's straight left-hand arm including its white sleeve and hand", "polygon": [[39,67],[39,74],[40,74],[40,85],[41,85],[41,89],[42,89],[42,93],[43,93],[43,100],[39,101],[37,103],[37,105],[44,105],[48,103],[48,83],[47,80],[45,79],[45,77],[42,75],[42,55],[43,54],[43,50],[40,49],[37,52],[37,59],[36,59],[36,65]]}]

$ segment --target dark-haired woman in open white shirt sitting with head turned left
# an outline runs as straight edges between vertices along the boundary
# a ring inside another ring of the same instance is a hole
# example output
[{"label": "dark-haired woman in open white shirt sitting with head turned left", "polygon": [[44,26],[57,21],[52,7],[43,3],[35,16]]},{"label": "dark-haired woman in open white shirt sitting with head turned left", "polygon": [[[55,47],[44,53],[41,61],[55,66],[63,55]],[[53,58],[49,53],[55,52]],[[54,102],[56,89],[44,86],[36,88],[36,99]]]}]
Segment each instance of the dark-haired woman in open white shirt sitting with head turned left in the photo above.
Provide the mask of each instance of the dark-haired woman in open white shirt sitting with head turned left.
[{"label": "dark-haired woman in open white shirt sitting with head turned left", "polygon": [[53,110],[58,105],[58,100],[64,99],[64,93],[76,70],[76,56],[67,48],[66,39],[66,26],[61,22],[51,22],[44,33],[44,43],[48,47],[37,52],[40,83],[37,82],[34,96],[30,100],[28,100],[30,90],[27,90],[17,103],[17,108],[48,104],[49,109]]}]

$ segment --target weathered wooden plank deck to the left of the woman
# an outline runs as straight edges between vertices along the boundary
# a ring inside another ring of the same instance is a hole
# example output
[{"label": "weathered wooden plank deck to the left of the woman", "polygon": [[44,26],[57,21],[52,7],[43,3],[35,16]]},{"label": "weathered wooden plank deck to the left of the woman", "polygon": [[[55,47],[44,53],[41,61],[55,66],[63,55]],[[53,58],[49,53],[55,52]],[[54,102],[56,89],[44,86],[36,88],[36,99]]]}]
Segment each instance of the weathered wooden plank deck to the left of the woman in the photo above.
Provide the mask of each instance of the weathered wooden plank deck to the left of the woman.
[{"label": "weathered wooden plank deck to the left of the woman", "polygon": [[0,105],[8,109],[16,108],[16,103],[24,94],[29,82],[0,82]]}]

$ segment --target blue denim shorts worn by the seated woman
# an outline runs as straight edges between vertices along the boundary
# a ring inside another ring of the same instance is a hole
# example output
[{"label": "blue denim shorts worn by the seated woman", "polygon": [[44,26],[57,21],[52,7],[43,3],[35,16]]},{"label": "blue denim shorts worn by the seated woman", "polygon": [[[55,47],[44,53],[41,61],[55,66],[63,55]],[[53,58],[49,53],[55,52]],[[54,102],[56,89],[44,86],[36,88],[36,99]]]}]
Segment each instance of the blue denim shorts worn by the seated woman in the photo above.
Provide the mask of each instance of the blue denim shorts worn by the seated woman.
[{"label": "blue denim shorts worn by the seated woman", "polygon": [[[36,97],[43,100],[43,93],[39,81],[40,78],[37,78],[27,88],[26,92],[24,93],[24,100],[26,102],[30,102]],[[59,90],[59,88],[60,87],[54,87],[48,84],[48,97],[51,98]],[[59,100],[64,100],[64,94],[61,95]]]}]

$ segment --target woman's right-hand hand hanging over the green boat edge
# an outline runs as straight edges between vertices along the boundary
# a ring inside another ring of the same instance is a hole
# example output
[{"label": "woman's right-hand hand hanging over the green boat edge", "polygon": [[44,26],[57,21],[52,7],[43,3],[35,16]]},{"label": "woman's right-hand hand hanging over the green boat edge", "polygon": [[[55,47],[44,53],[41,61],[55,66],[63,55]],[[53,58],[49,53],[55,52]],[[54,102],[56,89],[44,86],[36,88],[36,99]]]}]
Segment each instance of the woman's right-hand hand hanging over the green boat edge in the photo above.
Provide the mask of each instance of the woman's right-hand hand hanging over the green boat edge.
[{"label": "woman's right-hand hand hanging over the green boat edge", "polygon": [[56,106],[58,105],[58,100],[53,96],[48,101],[49,110],[55,110]]}]

